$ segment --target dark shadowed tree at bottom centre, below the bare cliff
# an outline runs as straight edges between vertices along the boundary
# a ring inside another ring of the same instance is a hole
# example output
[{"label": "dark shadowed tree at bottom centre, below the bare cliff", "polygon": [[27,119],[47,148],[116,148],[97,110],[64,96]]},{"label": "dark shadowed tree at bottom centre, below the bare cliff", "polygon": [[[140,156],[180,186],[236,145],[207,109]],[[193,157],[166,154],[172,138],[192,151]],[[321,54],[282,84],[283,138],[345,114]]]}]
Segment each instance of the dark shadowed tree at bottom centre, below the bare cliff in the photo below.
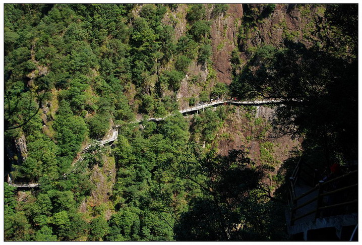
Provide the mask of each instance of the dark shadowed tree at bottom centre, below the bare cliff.
[{"label": "dark shadowed tree at bottom centre, below the bare cliff", "polygon": [[[249,209],[253,206],[260,210],[264,205],[259,198],[262,195],[259,181],[265,175],[265,169],[254,167],[254,164],[243,150],[232,150],[224,157],[210,152],[197,162],[183,163],[180,173],[185,177],[196,181],[200,175],[204,176],[205,181],[202,184],[198,182],[204,196],[190,202],[190,209],[182,214],[180,222],[174,227],[175,238],[196,241],[250,240],[248,235],[253,234],[254,230],[243,230],[242,227],[235,227],[235,224],[247,223],[254,228],[257,224],[253,217],[248,216]],[[190,171],[191,166],[195,165],[192,169],[196,171]],[[258,238],[254,237],[253,240]]]}]

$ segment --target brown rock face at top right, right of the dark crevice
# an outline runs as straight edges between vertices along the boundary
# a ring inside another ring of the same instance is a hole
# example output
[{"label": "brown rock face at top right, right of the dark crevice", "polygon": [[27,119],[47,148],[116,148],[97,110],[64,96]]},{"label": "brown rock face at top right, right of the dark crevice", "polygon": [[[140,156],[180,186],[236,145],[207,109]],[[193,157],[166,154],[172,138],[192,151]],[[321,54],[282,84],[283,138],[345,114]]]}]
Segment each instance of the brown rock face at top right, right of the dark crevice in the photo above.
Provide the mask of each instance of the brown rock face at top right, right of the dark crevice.
[{"label": "brown rock face at top right, right of the dark crevice", "polygon": [[[325,7],[319,5],[277,4],[273,12],[266,14],[265,5],[244,5],[249,12],[259,15],[252,22],[254,30],[240,39],[243,51],[252,46],[282,46],[283,40],[293,40],[310,46],[318,37],[316,30]],[[245,25],[244,25],[245,26]]]}]

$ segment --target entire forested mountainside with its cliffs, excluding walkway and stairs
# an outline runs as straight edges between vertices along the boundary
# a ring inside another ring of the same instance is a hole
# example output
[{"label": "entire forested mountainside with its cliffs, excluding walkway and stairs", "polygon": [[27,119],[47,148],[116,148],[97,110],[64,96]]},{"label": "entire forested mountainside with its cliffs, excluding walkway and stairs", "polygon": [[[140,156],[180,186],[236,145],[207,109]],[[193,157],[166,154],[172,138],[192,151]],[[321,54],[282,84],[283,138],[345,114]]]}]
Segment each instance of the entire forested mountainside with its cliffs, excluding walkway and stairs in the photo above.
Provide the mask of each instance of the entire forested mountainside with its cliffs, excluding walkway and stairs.
[{"label": "entire forested mountainside with its cliffs, excluding walkway and stairs", "polygon": [[[288,240],[297,160],[357,160],[357,5],[4,8],[5,240]],[[178,112],[230,97],[284,103]]]}]

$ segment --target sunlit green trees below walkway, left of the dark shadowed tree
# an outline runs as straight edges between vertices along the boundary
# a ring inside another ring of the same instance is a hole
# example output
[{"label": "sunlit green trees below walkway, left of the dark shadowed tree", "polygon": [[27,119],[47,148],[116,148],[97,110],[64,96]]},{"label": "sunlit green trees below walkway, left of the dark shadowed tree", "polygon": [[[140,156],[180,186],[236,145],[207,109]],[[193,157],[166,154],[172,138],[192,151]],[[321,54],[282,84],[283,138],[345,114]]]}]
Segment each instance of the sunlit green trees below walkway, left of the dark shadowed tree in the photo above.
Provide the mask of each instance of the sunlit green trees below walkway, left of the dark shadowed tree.
[{"label": "sunlit green trees below walkway, left of the dark shadowed tree", "polygon": [[[175,220],[165,210],[173,210],[171,200],[182,202],[178,193],[185,193],[173,164],[188,152],[188,123],[177,113],[159,124],[142,124],[141,132],[119,131],[125,136],[118,138],[115,147],[119,166],[114,186],[117,213],[109,220],[106,240],[173,239]],[[177,215],[179,211],[172,212]]]}]

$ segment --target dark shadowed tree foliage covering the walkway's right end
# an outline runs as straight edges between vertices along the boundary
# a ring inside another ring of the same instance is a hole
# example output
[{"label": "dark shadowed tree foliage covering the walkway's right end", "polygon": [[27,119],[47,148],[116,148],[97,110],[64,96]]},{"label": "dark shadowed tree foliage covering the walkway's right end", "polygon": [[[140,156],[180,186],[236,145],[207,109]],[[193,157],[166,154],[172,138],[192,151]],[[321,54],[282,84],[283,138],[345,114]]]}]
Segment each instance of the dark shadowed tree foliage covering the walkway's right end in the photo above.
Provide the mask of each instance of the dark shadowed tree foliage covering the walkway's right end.
[{"label": "dark shadowed tree foliage covering the walkway's right end", "polygon": [[[344,39],[339,44],[324,42],[323,50],[318,44],[307,48],[302,43],[288,40],[284,42],[283,49],[264,46],[230,86],[242,98],[298,99],[300,103],[276,109],[273,128],[281,134],[311,137],[313,144],[323,146],[328,156],[326,164],[340,154],[349,159],[356,157],[357,141],[351,132],[356,130],[357,124],[352,116],[355,112],[350,110],[357,96],[353,92],[357,85],[355,56],[353,52],[341,53],[336,49],[337,46],[353,46],[353,32],[350,35],[349,40]],[[251,71],[252,67],[256,69]],[[345,83],[347,80],[349,83]],[[332,94],[335,96],[333,99]],[[335,112],[326,108],[333,108],[341,114],[336,116]],[[336,125],[344,129],[343,133]]]}]

